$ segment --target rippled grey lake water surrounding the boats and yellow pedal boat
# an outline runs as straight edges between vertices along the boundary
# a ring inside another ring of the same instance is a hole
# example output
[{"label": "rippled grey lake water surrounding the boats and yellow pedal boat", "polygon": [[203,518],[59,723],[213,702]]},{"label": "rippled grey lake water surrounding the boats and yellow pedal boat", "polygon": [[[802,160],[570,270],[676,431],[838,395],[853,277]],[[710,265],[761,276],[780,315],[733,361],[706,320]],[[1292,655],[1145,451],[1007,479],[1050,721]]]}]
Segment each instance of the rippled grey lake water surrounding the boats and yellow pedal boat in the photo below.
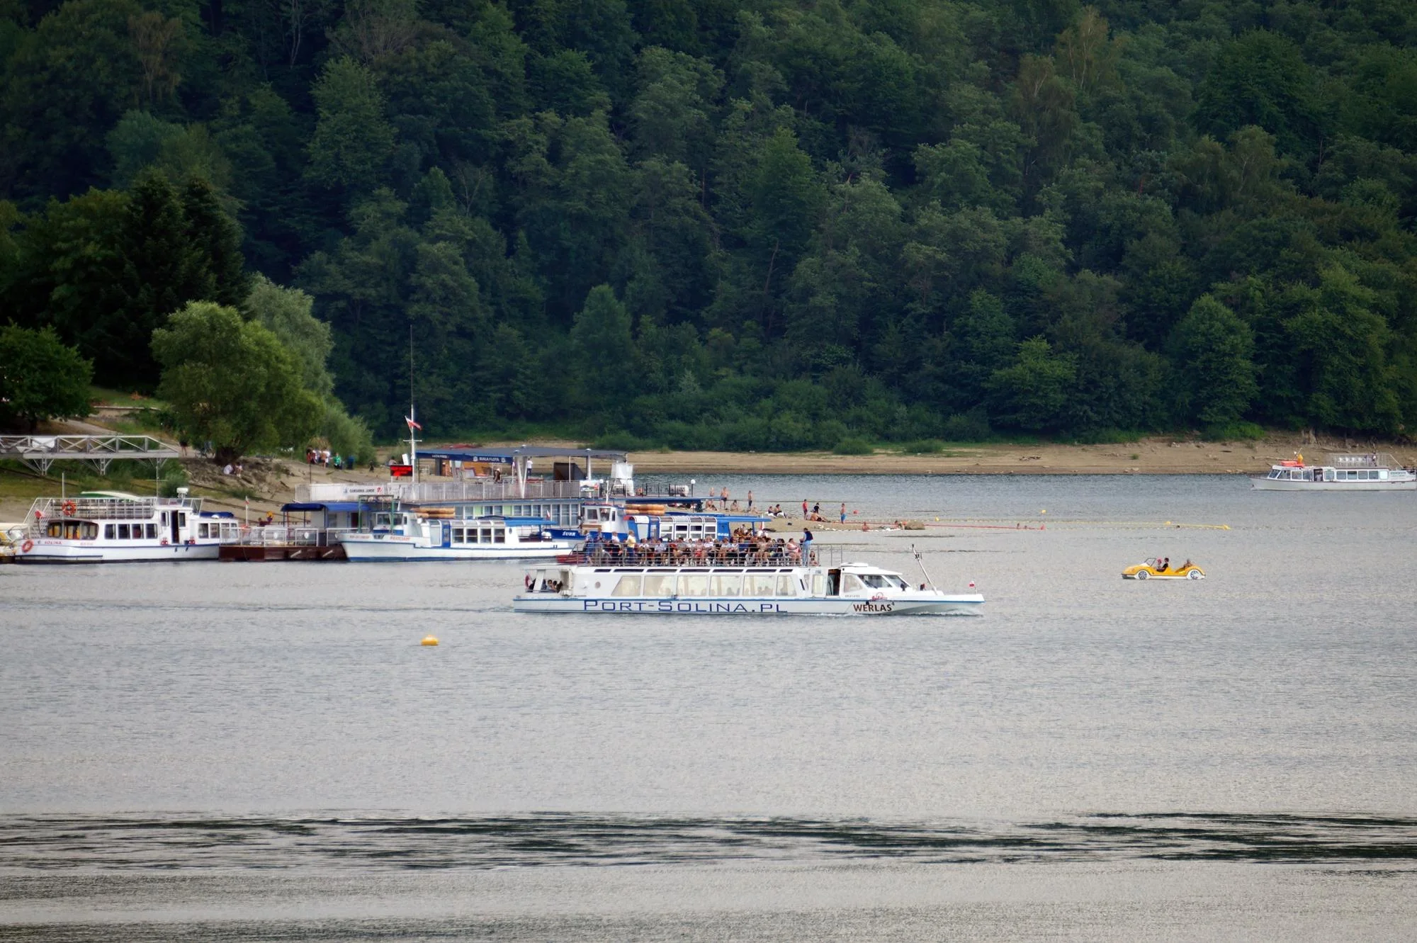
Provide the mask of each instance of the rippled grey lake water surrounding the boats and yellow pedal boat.
[{"label": "rippled grey lake water surrounding the boats and yellow pedal boat", "polygon": [[[1417,496],[708,486],[927,520],[818,539],[920,579],[914,545],[986,615],[0,568],[0,939],[1417,936]],[[1119,579],[1152,555],[1209,578]]]}]

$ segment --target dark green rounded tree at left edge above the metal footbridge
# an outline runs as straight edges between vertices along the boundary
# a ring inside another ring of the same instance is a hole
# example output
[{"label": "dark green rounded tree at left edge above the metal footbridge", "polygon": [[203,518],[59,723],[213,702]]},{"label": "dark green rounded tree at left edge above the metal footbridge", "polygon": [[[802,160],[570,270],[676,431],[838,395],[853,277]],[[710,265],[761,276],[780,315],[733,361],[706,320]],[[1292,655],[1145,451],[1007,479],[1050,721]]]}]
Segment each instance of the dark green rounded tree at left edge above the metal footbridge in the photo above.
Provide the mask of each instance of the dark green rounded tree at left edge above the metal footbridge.
[{"label": "dark green rounded tree at left edge above the metal footbridge", "polygon": [[34,432],[45,419],[89,413],[94,364],[52,327],[0,327],[0,426]]}]

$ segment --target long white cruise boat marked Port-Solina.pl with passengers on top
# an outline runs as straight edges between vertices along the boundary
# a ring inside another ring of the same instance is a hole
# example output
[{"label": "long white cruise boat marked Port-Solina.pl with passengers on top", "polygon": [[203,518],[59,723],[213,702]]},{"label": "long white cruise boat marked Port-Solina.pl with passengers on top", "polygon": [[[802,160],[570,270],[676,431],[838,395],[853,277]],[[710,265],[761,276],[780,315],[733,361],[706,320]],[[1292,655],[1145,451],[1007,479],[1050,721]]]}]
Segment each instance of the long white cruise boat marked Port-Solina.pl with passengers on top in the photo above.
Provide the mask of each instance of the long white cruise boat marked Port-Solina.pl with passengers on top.
[{"label": "long white cruise boat marked Port-Solina.pl with passengers on top", "polygon": [[693,616],[942,616],[975,615],[979,593],[918,588],[870,564],[803,564],[791,555],[592,554],[584,562],[527,571],[516,612]]}]

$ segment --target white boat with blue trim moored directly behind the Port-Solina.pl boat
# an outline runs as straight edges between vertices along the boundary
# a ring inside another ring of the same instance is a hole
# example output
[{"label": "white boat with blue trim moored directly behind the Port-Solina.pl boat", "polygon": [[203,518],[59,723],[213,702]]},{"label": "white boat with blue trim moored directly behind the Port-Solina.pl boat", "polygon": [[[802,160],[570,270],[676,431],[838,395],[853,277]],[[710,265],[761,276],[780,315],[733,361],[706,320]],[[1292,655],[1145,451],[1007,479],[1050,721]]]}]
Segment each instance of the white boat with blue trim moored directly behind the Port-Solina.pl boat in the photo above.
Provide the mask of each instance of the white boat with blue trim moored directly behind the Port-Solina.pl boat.
[{"label": "white boat with blue trim moored directly behind the Port-Solina.pl boat", "polygon": [[368,530],[339,535],[351,561],[540,559],[574,551],[581,535],[540,518],[451,517],[452,508],[370,514]]}]

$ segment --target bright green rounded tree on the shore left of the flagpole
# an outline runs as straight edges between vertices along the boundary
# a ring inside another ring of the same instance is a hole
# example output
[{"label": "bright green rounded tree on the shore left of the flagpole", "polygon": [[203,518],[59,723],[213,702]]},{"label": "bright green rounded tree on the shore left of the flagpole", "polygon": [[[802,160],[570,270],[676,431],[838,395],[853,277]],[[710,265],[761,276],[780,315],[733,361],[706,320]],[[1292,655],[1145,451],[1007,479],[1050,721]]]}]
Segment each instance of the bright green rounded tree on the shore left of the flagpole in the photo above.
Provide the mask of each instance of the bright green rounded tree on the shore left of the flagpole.
[{"label": "bright green rounded tree on the shore left of the flagpole", "polygon": [[269,330],[232,307],[191,302],[153,331],[157,388],[179,429],[211,443],[218,464],[254,449],[299,447],[324,406],[300,384],[300,365]]}]

